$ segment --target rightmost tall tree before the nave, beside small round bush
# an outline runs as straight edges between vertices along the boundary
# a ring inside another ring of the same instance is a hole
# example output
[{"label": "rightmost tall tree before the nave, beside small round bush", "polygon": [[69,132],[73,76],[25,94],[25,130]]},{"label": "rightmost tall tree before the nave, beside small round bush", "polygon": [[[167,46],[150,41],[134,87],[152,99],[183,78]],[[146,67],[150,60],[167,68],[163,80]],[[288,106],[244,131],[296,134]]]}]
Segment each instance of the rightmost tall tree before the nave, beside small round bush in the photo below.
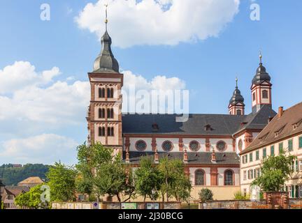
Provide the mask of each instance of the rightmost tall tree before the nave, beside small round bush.
[{"label": "rightmost tall tree before the nave, beside small round bush", "polygon": [[174,196],[175,199],[187,199],[191,192],[191,183],[189,185],[189,178],[185,176],[185,166],[182,160],[169,160],[168,157],[163,157],[159,160],[159,172],[163,177],[161,184],[161,195],[164,201],[164,194],[166,194],[166,201]]}]

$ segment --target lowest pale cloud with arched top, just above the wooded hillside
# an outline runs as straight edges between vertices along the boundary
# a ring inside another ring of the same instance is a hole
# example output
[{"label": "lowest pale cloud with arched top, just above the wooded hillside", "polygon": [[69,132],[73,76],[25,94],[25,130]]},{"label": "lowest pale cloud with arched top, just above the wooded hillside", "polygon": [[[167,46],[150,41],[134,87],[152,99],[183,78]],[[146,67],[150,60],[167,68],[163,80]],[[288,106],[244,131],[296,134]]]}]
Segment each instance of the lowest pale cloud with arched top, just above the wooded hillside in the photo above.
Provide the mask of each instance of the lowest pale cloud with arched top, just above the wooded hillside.
[{"label": "lowest pale cloud with arched top, just above the wooded hillside", "polygon": [[10,139],[0,146],[0,163],[74,164],[77,142],[57,134]]}]

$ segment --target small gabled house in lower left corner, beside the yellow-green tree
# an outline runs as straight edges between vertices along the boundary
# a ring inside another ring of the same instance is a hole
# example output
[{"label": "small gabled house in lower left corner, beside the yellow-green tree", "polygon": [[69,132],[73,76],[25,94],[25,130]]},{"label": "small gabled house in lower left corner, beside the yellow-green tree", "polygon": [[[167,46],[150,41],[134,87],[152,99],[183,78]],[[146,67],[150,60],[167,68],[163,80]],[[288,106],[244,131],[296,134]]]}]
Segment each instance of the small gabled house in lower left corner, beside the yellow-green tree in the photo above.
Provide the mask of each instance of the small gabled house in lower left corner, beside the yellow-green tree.
[{"label": "small gabled house in lower left corner, beside the yellow-green tree", "polygon": [[26,192],[29,192],[30,188],[27,186],[6,186],[3,192],[3,204],[6,209],[17,209],[15,205],[15,198]]}]

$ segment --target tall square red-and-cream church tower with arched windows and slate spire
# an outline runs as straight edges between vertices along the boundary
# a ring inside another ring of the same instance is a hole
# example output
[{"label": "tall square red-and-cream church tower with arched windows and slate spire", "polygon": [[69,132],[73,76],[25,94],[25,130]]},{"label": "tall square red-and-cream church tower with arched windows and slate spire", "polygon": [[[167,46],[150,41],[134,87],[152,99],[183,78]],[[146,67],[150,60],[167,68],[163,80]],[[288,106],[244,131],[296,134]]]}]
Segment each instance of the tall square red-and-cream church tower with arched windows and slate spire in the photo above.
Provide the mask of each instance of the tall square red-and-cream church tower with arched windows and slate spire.
[{"label": "tall square red-and-cream church tower with arched windows and slate spire", "polygon": [[107,31],[101,38],[101,53],[88,73],[91,100],[87,112],[88,144],[100,142],[122,152],[122,86],[124,75],[111,51],[111,38]]}]

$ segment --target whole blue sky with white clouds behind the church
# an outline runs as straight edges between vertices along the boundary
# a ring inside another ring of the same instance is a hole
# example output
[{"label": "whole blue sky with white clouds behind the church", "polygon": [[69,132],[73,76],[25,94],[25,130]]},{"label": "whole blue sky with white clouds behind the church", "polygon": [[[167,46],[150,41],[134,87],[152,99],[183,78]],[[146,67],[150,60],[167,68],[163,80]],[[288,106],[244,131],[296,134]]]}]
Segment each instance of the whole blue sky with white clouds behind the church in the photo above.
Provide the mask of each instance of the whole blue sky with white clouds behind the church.
[{"label": "whole blue sky with white clouds behind the church", "polygon": [[249,113],[261,49],[273,109],[301,102],[302,1],[1,1],[0,164],[75,164],[105,3],[125,89],[184,89],[190,113],[227,114],[238,77]]}]

